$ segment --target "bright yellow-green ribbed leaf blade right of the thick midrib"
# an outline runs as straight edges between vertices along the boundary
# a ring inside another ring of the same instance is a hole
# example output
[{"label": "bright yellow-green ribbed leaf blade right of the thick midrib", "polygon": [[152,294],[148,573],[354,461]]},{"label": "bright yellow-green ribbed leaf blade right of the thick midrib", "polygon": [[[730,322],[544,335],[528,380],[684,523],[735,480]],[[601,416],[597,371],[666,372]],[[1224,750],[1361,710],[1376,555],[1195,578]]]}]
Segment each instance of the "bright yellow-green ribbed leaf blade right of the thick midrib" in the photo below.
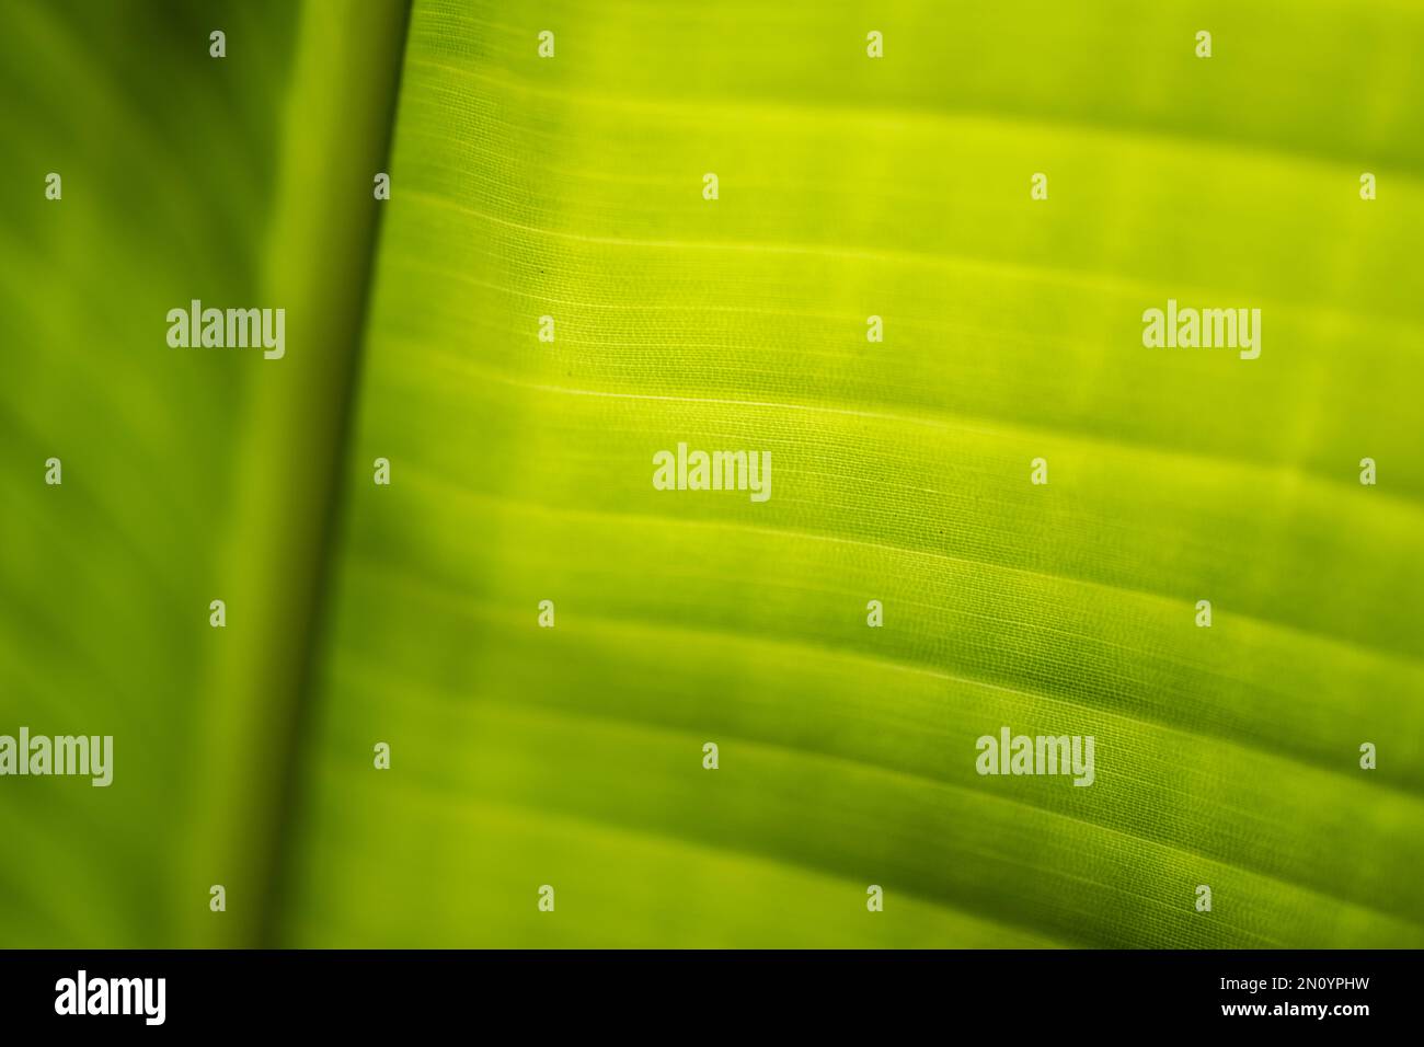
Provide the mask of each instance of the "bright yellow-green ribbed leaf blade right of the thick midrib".
[{"label": "bright yellow-green ribbed leaf blade right of the thick midrib", "polygon": [[[417,3],[281,940],[1424,944],[1421,46]],[[1168,299],[1260,358],[1143,348]],[[980,776],[1002,725],[1095,783]]]}]

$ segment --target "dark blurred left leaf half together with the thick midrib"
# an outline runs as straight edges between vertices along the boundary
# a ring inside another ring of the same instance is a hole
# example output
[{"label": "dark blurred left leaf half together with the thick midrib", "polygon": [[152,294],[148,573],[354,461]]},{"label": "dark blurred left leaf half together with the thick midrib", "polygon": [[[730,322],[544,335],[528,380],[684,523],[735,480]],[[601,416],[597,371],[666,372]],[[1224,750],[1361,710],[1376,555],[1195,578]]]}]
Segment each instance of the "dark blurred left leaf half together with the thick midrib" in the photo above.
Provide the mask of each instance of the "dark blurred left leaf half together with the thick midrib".
[{"label": "dark blurred left leaf half together with the thick midrib", "polygon": [[[114,736],[110,788],[0,782],[0,944],[255,942],[404,7],[0,19],[0,734]],[[169,348],[192,299],[286,356]]]}]

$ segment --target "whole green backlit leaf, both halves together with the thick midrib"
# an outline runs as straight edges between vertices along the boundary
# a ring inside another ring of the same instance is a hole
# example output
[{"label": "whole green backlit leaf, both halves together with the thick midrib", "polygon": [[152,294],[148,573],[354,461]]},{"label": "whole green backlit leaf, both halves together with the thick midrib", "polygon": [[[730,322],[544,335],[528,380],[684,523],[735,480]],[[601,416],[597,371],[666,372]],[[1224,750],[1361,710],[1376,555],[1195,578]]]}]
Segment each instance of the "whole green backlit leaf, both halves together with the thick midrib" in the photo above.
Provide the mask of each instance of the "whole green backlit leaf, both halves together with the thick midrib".
[{"label": "whole green backlit leaf, both halves together with the thick midrib", "polygon": [[1424,11],[142,11],[0,44],[0,943],[1424,944]]}]

